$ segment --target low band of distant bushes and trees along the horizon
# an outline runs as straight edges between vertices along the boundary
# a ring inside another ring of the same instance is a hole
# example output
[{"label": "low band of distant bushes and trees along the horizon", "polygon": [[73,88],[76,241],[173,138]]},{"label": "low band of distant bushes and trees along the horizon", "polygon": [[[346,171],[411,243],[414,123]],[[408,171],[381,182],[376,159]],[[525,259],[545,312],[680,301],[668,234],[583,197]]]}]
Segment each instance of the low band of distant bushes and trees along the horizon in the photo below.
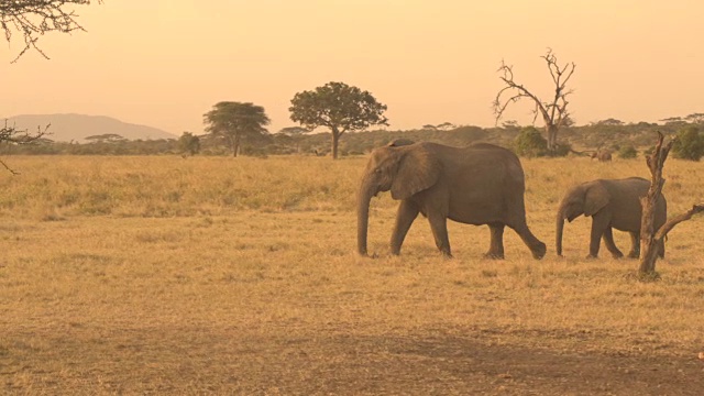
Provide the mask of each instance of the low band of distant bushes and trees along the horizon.
[{"label": "low band of distant bushes and trees along the horizon", "polygon": [[[596,150],[608,150],[615,157],[635,157],[652,150],[653,136],[658,131],[666,136],[676,136],[672,148],[675,157],[697,161],[704,156],[704,119],[696,122],[668,119],[664,123],[624,123],[608,119],[587,125],[562,128],[560,155],[586,155]],[[161,140],[127,140],[116,134],[98,134],[88,136],[81,143],[54,142],[47,138],[51,135],[29,144],[4,142],[0,144],[0,155],[233,155],[232,139],[220,133],[197,135],[184,132],[179,139]],[[512,148],[526,157],[539,157],[549,153],[547,140],[540,130],[510,123],[496,128],[464,125],[439,129],[424,125],[406,131],[345,133],[338,142],[338,155],[362,155],[402,138],[454,146],[487,142]],[[331,155],[331,140],[330,132],[311,133],[301,127],[287,127],[276,133],[244,134],[240,139],[238,152],[246,156]]]}]

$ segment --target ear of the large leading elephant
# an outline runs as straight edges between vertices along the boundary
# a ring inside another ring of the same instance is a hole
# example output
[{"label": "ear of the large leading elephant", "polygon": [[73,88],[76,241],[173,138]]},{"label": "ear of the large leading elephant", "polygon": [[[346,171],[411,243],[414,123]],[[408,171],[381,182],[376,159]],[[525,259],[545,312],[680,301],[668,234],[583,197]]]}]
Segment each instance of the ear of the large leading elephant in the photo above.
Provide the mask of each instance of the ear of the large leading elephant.
[{"label": "ear of the large leading elephant", "polygon": [[[407,199],[416,193],[432,187],[440,177],[441,165],[427,147],[403,147],[398,170],[392,183],[392,198]],[[400,148],[399,148],[400,150]]]}]

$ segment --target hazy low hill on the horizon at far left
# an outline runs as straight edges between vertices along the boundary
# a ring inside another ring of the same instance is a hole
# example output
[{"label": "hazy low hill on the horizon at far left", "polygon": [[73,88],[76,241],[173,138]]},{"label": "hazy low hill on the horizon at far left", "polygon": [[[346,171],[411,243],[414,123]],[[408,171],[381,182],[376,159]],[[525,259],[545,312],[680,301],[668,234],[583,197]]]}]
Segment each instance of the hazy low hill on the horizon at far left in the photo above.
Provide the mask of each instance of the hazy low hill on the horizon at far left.
[{"label": "hazy low hill on the horizon at far left", "polygon": [[36,131],[37,127],[44,129],[47,124],[52,124],[48,129],[51,135],[47,138],[55,142],[73,140],[84,143],[87,136],[106,133],[119,134],[128,140],[178,139],[175,134],[157,128],[127,123],[105,116],[23,114],[8,117],[8,124],[14,124],[18,129],[26,129],[30,132]]}]

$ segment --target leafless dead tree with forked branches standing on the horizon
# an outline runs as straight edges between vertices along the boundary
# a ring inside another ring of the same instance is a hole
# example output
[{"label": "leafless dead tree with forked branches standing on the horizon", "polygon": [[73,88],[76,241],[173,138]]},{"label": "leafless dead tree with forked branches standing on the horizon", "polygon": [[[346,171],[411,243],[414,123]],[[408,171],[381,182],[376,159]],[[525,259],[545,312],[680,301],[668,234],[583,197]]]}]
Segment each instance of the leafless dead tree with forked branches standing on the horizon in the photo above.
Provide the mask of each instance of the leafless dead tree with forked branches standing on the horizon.
[{"label": "leafless dead tree with forked branches standing on the horizon", "polygon": [[517,102],[522,98],[531,100],[535,105],[534,123],[538,116],[542,117],[548,135],[548,151],[554,153],[558,148],[558,132],[560,128],[566,127],[571,122],[570,113],[568,112],[568,96],[571,95],[573,90],[568,89],[566,84],[570,77],[572,77],[576,65],[569,63],[561,67],[558,65],[558,58],[550,48],[548,48],[547,54],[542,55],[541,58],[546,61],[550,76],[552,77],[552,82],[554,84],[554,96],[551,100],[541,100],[529,91],[528,88],[515,81],[513,66],[506,65],[504,61],[502,61],[502,66],[497,72],[501,73],[499,79],[504,81],[505,87],[496,95],[493,108],[496,123],[498,123],[510,103]]}]

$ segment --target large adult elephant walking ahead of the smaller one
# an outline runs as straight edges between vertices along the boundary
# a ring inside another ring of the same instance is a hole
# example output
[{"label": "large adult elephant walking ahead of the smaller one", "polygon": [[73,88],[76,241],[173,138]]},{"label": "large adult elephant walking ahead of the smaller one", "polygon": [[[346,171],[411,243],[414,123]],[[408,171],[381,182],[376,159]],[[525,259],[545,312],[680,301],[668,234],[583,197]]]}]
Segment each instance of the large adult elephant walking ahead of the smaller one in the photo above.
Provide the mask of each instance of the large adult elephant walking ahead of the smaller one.
[{"label": "large adult elephant walking ahead of the smaller one", "polygon": [[[407,142],[404,142],[407,143]],[[525,176],[518,157],[492,144],[451,147],[436,143],[391,144],[375,148],[358,195],[358,250],[365,255],[370,201],[380,191],[400,200],[391,252],[399,254],[418,213],[428,218],[436,245],[451,256],[447,219],[488,224],[487,257],[504,257],[504,227],[514,229],[534,257],[546,254],[526,224]]]}]

